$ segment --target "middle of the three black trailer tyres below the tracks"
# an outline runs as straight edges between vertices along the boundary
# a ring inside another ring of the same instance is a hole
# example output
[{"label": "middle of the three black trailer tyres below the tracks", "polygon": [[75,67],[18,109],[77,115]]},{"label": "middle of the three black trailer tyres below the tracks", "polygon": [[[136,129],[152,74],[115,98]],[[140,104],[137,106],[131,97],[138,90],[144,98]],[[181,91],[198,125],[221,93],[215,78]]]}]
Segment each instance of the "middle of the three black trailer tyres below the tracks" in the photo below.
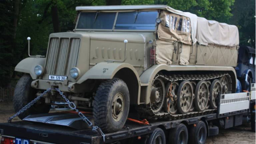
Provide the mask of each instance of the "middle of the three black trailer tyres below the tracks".
[{"label": "middle of the three black trailer tyres below the tracks", "polygon": [[188,143],[188,129],[184,124],[178,124],[176,128],[170,130],[169,134],[170,144],[187,144]]}]

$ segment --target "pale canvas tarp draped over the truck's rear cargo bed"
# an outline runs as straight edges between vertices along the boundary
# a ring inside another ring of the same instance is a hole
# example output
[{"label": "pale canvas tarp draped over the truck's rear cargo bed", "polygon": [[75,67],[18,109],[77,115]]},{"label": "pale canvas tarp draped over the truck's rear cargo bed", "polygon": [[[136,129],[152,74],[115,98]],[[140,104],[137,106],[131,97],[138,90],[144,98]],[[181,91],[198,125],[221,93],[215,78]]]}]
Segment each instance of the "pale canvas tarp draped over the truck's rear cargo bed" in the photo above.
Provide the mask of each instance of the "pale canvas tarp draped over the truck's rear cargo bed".
[{"label": "pale canvas tarp draped over the truck's rear cargo bed", "polygon": [[230,47],[239,45],[239,34],[236,26],[202,17],[197,17],[196,39],[199,44],[203,45],[214,44]]}]

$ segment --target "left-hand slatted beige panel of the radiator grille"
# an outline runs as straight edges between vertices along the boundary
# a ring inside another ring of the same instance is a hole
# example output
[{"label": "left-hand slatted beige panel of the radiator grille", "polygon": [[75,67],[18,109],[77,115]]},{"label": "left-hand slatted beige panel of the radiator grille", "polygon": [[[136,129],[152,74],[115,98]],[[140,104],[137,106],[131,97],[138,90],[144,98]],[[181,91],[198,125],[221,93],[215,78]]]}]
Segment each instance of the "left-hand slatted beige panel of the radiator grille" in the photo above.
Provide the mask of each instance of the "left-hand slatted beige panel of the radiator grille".
[{"label": "left-hand slatted beige panel of the radiator grille", "polygon": [[48,60],[46,64],[46,73],[53,74],[54,64],[56,59],[56,53],[58,49],[59,38],[51,38],[51,43],[49,46]]}]

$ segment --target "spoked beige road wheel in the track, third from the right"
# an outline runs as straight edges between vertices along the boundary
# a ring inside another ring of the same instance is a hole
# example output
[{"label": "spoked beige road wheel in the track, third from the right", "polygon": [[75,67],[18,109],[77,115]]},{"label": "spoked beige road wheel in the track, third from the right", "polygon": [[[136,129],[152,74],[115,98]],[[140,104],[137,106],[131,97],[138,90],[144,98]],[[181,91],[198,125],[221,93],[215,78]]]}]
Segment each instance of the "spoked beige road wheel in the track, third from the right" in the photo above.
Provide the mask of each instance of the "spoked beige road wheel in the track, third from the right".
[{"label": "spoked beige road wheel in the track, third from the right", "polygon": [[206,81],[201,80],[196,85],[195,107],[197,111],[204,111],[208,103],[209,90]]}]

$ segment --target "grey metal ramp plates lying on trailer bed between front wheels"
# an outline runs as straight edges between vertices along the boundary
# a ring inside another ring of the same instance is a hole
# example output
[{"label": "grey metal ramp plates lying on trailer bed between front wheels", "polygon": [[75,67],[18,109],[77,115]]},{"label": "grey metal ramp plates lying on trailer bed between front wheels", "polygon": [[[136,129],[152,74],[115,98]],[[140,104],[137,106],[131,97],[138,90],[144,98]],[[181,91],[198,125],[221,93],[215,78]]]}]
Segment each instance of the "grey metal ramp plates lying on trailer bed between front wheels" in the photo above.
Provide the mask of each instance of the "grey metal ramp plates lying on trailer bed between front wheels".
[{"label": "grey metal ramp plates lying on trailer bed between front wheels", "polygon": [[[86,115],[86,117],[94,124],[93,117]],[[25,117],[23,120],[32,122],[41,122],[54,125],[68,126],[77,130],[89,128],[88,124],[82,120],[78,114],[71,113],[44,113],[34,114]]]}]

